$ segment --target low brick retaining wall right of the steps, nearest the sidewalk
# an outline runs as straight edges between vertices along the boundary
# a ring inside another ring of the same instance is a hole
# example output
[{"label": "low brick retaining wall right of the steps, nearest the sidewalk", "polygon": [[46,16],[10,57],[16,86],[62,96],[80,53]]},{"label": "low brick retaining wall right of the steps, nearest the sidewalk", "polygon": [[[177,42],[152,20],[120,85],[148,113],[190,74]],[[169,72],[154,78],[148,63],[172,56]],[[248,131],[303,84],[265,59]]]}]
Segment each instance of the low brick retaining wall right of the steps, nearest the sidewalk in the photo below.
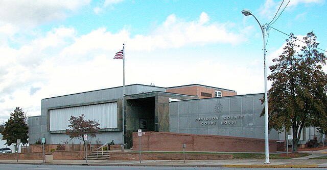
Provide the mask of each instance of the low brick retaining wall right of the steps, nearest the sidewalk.
[{"label": "low brick retaining wall right of the steps, nearest the sidewalk", "polygon": [[[142,153],[142,160],[182,160],[182,153]],[[218,160],[232,159],[228,154],[185,154],[187,160]],[[139,160],[139,153],[111,152],[110,160]]]}]

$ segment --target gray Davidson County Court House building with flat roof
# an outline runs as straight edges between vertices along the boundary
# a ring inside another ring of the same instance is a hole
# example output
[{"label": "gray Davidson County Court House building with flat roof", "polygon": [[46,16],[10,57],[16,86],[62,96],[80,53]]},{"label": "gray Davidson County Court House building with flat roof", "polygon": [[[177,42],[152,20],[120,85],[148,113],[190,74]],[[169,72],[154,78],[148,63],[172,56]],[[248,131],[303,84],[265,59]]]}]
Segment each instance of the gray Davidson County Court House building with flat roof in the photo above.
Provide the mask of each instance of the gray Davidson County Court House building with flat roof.
[{"label": "gray Davidson County Court House building with flat roof", "polygon": [[[265,137],[264,117],[260,117],[263,94],[237,95],[233,90],[190,84],[161,88],[142,84],[45,98],[41,116],[29,118],[29,141],[45,138],[46,144],[69,141],[65,129],[69,118],[84,114],[100,124],[100,134],[91,144],[114,140],[132,147],[132,133],[143,131],[211,134],[236,137]],[[124,102],[124,114],[123,114]],[[124,130],[123,130],[124,127]],[[307,130],[308,131],[308,130]],[[303,141],[316,132],[303,132]],[[270,139],[284,140],[275,130]],[[72,140],[69,143],[80,143]]]}]

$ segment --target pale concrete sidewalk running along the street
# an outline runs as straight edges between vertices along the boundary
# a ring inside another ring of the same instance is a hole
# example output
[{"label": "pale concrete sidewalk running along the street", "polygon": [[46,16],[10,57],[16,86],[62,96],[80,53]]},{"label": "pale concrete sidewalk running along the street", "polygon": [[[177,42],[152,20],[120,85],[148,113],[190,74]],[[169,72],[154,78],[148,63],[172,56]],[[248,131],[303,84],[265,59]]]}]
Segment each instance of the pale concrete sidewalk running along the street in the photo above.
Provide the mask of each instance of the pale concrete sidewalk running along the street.
[{"label": "pale concrete sidewalk running along the street", "polygon": [[[325,159],[309,159],[324,156],[321,151],[307,151],[312,154],[307,157],[293,159],[270,159],[270,164],[264,164],[264,159],[231,159],[231,160],[139,160],[133,161],[110,161],[110,160],[54,160],[51,163],[43,163],[43,160],[18,160],[22,164],[65,164],[65,165],[102,165],[102,166],[200,166],[200,167],[327,167]],[[0,160],[0,163],[17,163],[17,160]]]}]

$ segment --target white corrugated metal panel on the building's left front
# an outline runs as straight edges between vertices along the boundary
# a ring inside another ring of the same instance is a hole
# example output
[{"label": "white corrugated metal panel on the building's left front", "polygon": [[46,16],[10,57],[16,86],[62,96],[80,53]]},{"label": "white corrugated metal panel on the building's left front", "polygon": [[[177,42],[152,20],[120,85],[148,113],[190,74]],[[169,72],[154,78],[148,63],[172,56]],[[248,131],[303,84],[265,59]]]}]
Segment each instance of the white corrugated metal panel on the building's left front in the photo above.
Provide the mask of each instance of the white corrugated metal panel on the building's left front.
[{"label": "white corrugated metal panel on the building's left front", "polygon": [[99,121],[100,128],[117,128],[117,102],[50,110],[50,130],[68,129],[71,116]]}]

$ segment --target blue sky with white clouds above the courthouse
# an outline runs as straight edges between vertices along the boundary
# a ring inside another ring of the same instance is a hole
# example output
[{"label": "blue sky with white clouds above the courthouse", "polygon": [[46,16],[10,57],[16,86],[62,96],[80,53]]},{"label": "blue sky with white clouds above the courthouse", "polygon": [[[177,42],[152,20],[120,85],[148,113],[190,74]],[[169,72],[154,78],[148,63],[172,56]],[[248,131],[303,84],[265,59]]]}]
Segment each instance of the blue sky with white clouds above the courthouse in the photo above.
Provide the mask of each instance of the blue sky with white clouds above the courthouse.
[{"label": "blue sky with white clouds above the courthouse", "polygon": [[283,33],[300,39],[313,31],[327,50],[326,3],[0,0],[0,123],[15,107],[41,115],[44,98],[122,86],[123,61],[113,56],[123,43],[126,85],[197,83],[263,93],[263,36],[241,11],[273,28],[266,45],[271,66],[283,52]]}]

